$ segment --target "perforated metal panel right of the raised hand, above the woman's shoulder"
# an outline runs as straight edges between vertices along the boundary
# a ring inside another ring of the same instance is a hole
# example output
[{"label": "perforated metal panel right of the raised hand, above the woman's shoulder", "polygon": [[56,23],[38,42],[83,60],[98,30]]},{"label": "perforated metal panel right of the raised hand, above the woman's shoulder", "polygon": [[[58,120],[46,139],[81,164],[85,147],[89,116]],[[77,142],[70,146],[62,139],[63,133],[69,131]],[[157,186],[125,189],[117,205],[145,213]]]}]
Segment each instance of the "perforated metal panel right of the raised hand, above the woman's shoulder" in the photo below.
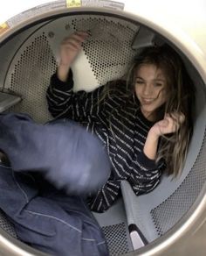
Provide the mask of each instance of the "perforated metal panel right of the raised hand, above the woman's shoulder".
[{"label": "perforated metal panel right of the raised hand, above the woman's shoulder", "polygon": [[72,26],[77,31],[91,32],[84,50],[100,84],[119,78],[134,56],[131,44],[139,26],[117,18],[73,18]]}]

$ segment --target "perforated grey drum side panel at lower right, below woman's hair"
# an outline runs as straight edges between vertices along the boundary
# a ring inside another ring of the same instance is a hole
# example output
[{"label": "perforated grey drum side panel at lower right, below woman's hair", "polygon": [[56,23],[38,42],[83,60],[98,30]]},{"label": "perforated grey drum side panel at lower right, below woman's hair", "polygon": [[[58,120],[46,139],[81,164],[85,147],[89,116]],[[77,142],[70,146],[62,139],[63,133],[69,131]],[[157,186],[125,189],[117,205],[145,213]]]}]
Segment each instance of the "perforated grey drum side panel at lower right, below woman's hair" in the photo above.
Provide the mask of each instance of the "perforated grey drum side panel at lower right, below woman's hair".
[{"label": "perforated grey drum side panel at lower right, below woman's hair", "polygon": [[195,203],[206,181],[206,132],[200,153],[181,186],[166,201],[151,211],[154,225],[161,236],[172,228]]}]

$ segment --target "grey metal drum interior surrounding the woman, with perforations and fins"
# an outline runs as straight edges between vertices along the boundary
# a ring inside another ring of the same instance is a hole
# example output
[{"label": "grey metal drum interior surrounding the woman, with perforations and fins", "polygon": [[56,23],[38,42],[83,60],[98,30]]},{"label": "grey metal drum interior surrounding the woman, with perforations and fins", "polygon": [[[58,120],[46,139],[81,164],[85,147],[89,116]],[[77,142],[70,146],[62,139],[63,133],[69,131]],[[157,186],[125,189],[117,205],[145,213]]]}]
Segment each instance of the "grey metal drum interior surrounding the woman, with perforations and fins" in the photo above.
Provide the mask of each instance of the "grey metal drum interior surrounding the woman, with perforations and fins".
[{"label": "grey metal drum interior surrounding the woman, with perforations and fins", "polygon": [[[93,35],[86,40],[73,64],[75,85],[78,85],[74,90],[89,91],[119,78],[142,46],[161,44],[164,40],[170,43],[163,35],[160,38],[157,32],[133,19],[109,13],[83,11],[42,19],[10,35],[0,48],[1,86],[8,93],[6,101],[1,103],[2,111],[28,113],[38,123],[52,119],[45,92],[58,65],[58,46],[74,31],[89,31]],[[174,227],[178,230],[182,217],[188,214],[203,191],[206,180],[205,89],[201,76],[187,56],[175,49],[182,54],[196,85],[194,133],[186,164],[178,179],[164,176],[161,184],[148,195],[135,196],[127,181],[123,181],[120,200],[105,213],[94,214],[105,233],[111,255],[132,252],[146,245],[146,240],[151,244]],[[40,255],[17,242],[16,232],[2,211],[0,224],[3,237],[12,245]],[[17,248],[12,251],[10,245],[10,249],[4,250],[16,255]],[[147,252],[147,246],[145,250]]]}]

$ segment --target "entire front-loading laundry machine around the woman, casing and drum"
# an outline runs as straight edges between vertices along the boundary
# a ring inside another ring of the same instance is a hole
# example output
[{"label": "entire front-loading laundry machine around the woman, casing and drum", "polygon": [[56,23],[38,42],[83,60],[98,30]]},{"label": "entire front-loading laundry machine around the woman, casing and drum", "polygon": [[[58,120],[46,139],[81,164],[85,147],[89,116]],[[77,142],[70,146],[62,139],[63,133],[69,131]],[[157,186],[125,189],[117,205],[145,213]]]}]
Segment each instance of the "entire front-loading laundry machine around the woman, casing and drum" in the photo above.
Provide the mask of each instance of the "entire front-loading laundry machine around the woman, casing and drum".
[{"label": "entire front-loading laundry machine around the woman, casing and drum", "polygon": [[[182,56],[196,86],[194,133],[182,175],[164,176],[143,196],[134,196],[123,181],[120,200],[94,217],[111,255],[205,255],[206,1],[12,0],[3,1],[0,13],[0,111],[25,112],[38,123],[52,119],[45,91],[58,46],[74,31],[93,35],[73,63],[76,90],[120,77],[144,46],[167,42]],[[45,253],[20,241],[0,210],[0,255]]]}]

